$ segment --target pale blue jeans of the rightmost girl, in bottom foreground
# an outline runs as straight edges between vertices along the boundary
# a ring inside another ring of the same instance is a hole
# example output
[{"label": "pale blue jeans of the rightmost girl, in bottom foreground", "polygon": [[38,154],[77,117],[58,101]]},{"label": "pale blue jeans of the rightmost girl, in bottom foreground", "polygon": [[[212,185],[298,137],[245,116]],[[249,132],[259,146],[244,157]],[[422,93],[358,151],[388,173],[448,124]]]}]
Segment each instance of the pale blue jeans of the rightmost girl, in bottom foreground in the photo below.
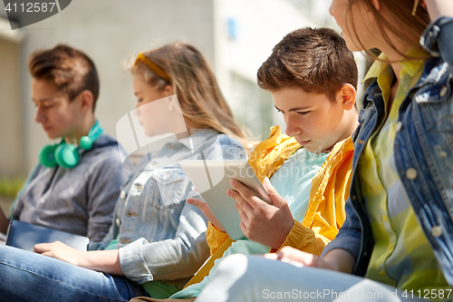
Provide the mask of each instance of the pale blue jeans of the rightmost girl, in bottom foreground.
[{"label": "pale blue jeans of the rightmost girl, in bottom foreground", "polygon": [[220,262],[197,302],[421,301],[417,295],[332,270],[236,254]]}]

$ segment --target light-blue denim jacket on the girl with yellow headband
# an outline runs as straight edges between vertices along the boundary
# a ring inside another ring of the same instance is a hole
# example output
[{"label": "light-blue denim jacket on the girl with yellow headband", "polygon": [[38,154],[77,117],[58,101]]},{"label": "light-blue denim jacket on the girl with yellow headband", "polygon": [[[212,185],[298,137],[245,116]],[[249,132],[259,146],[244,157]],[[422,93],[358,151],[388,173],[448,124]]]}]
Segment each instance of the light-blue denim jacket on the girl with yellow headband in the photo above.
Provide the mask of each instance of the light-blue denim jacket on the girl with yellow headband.
[{"label": "light-blue denim jacket on the girl with yellow headband", "polygon": [[100,244],[118,239],[124,275],[139,284],[172,280],[181,286],[209,257],[207,219],[186,200],[199,197],[178,161],[246,160],[235,139],[210,130],[167,143],[145,155],[121,187],[113,223]]}]

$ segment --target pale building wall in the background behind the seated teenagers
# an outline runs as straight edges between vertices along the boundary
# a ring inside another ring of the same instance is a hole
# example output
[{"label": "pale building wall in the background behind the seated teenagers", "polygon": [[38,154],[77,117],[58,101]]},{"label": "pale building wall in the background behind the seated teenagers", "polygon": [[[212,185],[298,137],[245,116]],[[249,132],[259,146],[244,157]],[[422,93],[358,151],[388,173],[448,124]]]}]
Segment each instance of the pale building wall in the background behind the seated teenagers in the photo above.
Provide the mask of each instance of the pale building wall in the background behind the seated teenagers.
[{"label": "pale building wall in the background behind the seated teenagers", "polygon": [[[96,115],[115,136],[135,106],[122,63],[174,41],[197,46],[212,64],[236,118],[263,139],[284,121],[256,71],[285,34],[333,25],[329,0],[77,0],[57,15],[12,31],[0,3],[0,177],[24,176],[50,143],[34,122],[26,58],[35,49],[69,44],[90,55],[101,79]],[[20,20],[18,20],[20,23]],[[283,129],[284,130],[284,129]]]}]

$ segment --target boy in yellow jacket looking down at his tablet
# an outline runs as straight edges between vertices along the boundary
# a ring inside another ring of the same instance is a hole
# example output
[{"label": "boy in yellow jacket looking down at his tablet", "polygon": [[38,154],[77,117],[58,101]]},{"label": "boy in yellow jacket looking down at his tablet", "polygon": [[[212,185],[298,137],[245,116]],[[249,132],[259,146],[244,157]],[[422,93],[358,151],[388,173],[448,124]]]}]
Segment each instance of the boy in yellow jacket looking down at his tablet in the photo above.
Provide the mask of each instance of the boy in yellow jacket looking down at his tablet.
[{"label": "boy in yellow jacket looking down at his tablet", "polygon": [[231,254],[265,254],[291,246],[319,255],[345,219],[351,135],[359,115],[352,52],[333,30],[299,29],[275,45],[257,76],[260,87],[272,93],[276,110],[283,113],[289,136],[275,126],[248,160],[272,205],[231,180],[235,190],[227,194],[236,200],[240,227],[248,238],[233,241],[203,201],[190,200],[212,223],[207,229],[212,258],[172,298],[198,297],[218,262]]}]

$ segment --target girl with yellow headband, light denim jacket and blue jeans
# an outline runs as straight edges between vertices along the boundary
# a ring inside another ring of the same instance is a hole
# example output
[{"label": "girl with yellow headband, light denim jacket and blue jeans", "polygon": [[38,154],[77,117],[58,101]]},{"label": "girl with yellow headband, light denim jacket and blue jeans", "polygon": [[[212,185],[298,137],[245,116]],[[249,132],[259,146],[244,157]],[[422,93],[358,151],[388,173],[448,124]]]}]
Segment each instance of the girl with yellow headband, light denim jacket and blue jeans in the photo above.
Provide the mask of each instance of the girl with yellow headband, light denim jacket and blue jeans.
[{"label": "girl with yellow headband, light denim jacket and blue jeans", "polygon": [[[61,242],[36,245],[35,253],[1,246],[0,300],[169,297],[209,256],[207,219],[186,202],[198,193],[178,161],[246,160],[244,132],[193,46],[168,44],[139,54],[131,72],[134,113],[145,134],[173,132],[177,140],[136,165],[121,187],[109,233],[90,251]],[[129,122],[130,114],[125,117]],[[129,139],[140,142],[138,134]]]}]

